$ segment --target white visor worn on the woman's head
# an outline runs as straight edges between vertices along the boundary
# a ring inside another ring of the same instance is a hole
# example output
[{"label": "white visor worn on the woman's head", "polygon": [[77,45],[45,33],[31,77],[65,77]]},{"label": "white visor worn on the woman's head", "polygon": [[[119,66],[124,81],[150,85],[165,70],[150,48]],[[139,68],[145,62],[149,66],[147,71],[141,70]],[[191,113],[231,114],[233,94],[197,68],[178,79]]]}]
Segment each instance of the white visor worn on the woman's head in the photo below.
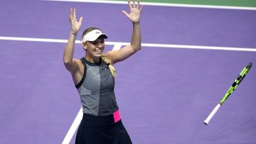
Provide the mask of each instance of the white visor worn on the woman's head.
[{"label": "white visor worn on the woman's head", "polygon": [[102,33],[102,31],[98,29],[90,31],[89,33],[83,36],[82,43],[85,43],[86,41],[95,41],[97,40],[97,38],[100,37],[100,35],[103,35],[103,38],[107,38],[107,34]]}]

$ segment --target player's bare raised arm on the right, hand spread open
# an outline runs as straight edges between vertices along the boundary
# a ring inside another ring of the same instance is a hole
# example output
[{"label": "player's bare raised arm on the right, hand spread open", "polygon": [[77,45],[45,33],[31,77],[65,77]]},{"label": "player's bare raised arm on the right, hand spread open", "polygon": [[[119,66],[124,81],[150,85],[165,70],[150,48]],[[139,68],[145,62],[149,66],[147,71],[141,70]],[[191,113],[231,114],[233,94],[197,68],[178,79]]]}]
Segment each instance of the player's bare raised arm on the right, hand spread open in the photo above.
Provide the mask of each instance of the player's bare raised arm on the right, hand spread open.
[{"label": "player's bare raised arm on the right, hand spread open", "polygon": [[133,33],[132,33],[132,40],[130,45],[125,46],[124,48],[121,48],[119,50],[112,50],[110,52],[107,52],[107,57],[110,58],[112,64],[121,62],[122,60],[127,59],[131,55],[133,55],[135,52],[141,49],[142,47],[142,35],[141,35],[141,29],[140,29],[140,13],[142,11],[143,6],[139,6],[139,0],[137,1],[137,6],[135,4],[135,1],[132,1],[132,4],[128,0],[128,6],[130,13],[127,13],[126,11],[122,11],[127,18],[129,18],[130,21],[132,21],[133,26]]}]

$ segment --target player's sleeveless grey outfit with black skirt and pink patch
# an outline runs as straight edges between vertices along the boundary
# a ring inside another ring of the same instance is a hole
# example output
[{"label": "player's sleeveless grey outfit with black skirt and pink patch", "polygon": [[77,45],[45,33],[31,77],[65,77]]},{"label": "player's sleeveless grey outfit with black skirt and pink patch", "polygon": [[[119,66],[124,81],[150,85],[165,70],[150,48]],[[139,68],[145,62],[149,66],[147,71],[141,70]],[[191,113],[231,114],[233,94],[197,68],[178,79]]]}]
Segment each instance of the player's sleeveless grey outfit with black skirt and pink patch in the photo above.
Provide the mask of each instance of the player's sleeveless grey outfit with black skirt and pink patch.
[{"label": "player's sleeveless grey outfit with black skirt and pink patch", "polygon": [[114,95],[114,77],[105,62],[80,59],[85,67],[82,80],[75,85],[82,101],[83,116],[76,144],[130,144]]}]

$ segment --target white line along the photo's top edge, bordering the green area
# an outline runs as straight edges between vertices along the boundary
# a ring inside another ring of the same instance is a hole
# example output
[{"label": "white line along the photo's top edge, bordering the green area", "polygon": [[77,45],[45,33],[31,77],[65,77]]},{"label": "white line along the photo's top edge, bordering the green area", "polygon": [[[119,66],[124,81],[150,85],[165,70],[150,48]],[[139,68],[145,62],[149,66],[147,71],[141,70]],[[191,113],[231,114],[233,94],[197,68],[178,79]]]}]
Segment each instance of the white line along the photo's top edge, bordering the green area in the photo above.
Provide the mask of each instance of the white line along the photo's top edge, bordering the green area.
[{"label": "white line along the photo's top edge, bordering the green area", "polygon": [[[42,1],[62,1],[62,2],[84,2],[84,3],[100,3],[100,4],[127,4],[127,1],[100,1],[100,0],[42,0]],[[174,7],[188,7],[188,8],[204,8],[204,9],[238,9],[238,10],[252,10],[255,7],[246,6],[215,6],[215,5],[202,5],[202,4],[169,4],[169,3],[155,3],[155,2],[140,2],[142,5],[147,6],[174,6]]]}]

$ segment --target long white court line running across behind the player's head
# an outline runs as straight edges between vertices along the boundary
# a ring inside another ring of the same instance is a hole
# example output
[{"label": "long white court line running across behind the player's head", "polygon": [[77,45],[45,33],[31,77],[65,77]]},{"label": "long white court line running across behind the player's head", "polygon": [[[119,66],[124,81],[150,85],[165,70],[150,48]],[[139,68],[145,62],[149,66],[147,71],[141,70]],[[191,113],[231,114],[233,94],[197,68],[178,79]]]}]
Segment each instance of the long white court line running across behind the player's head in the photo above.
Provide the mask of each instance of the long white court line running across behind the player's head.
[{"label": "long white court line running across behind the player's head", "polygon": [[[0,36],[0,40],[18,40],[18,41],[31,41],[31,42],[48,42],[48,43],[67,43],[68,40],[50,39],[50,38],[21,38],[21,37],[4,37]],[[80,43],[80,40],[75,40],[75,43]],[[106,45],[114,45],[121,47],[122,45],[129,45],[123,42],[105,42]],[[159,43],[142,43],[142,47],[149,48],[180,48],[180,49],[198,49],[198,50],[233,50],[233,51],[247,51],[256,52],[256,48],[236,48],[236,47],[216,47],[204,45],[172,45],[172,44],[159,44]]]}]

